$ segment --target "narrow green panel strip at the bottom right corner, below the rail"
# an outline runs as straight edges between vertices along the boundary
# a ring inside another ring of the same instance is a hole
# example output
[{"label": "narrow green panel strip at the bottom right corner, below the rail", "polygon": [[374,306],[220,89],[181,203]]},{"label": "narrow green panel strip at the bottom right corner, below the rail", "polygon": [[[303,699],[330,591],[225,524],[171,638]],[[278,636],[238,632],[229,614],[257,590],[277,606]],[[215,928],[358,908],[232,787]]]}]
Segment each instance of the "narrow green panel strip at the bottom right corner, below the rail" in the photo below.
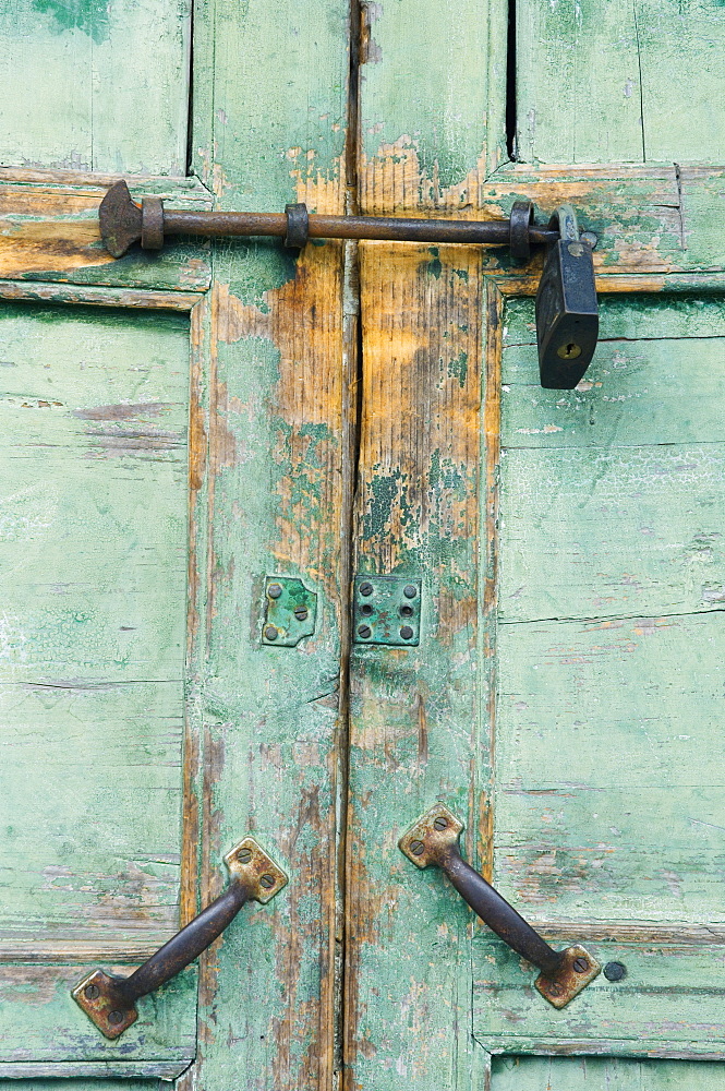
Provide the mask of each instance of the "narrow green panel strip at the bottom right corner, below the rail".
[{"label": "narrow green panel strip at the bottom right corner, below the rail", "polygon": [[715,1062],[494,1057],[492,1091],[718,1091]]}]

